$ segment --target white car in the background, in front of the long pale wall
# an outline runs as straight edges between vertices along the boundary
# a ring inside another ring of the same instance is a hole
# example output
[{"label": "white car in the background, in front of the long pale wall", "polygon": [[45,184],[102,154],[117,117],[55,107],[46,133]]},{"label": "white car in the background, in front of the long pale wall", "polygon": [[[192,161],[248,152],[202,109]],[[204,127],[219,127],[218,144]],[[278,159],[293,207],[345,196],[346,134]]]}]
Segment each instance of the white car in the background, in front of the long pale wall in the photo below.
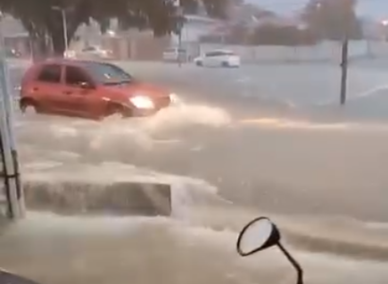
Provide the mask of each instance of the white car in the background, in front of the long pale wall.
[{"label": "white car in the background, in front of the long pale wall", "polygon": [[213,50],[194,59],[197,66],[240,67],[240,56],[230,50]]}]

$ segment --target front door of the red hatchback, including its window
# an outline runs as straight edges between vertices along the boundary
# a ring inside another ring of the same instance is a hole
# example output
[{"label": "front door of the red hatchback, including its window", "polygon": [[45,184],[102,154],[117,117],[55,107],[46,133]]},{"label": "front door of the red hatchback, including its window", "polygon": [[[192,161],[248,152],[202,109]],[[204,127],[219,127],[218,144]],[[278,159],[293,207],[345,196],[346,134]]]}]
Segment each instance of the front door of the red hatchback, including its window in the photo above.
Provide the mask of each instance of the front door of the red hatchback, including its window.
[{"label": "front door of the red hatchback, including its window", "polygon": [[89,74],[78,66],[65,66],[64,93],[79,117],[96,118],[104,112],[105,103],[97,95],[97,88]]}]

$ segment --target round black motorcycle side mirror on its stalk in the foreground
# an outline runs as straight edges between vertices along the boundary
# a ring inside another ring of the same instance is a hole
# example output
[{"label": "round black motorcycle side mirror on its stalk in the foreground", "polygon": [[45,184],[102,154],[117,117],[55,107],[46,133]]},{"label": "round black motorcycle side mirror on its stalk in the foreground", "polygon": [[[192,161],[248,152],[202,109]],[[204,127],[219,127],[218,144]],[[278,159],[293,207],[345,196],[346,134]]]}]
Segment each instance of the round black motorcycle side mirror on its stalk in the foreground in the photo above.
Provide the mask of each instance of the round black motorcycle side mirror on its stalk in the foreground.
[{"label": "round black motorcycle side mirror on its stalk in the foreground", "polygon": [[246,224],[240,232],[237,239],[237,252],[244,257],[277,247],[296,270],[297,284],[303,284],[302,267],[280,241],[281,234],[277,226],[269,218],[259,217]]}]

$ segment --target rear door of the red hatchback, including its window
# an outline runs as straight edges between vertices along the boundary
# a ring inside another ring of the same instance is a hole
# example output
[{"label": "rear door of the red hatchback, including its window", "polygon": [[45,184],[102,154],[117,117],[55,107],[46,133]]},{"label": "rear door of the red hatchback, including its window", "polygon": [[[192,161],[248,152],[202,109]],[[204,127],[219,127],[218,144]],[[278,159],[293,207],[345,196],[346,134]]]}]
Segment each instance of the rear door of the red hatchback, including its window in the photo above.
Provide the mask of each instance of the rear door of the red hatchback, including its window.
[{"label": "rear door of the red hatchback, including its window", "polygon": [[35,80],[27,87],[27,93],[34,98],[44,112],[58,113],[62,105],[62,66],[45,64],[37,72]]}]

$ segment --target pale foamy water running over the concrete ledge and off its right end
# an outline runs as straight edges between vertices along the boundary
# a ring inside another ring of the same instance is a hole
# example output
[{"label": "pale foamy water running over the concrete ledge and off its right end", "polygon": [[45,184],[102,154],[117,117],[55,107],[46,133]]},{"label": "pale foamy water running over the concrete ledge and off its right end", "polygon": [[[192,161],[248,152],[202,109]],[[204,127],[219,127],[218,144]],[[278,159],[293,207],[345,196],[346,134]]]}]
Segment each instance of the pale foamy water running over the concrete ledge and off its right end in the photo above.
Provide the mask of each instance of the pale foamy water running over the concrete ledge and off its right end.
[{"label": "pale foamy water running over the concrete ledge and off its right end", "polygon": [[[62,182],[104,185],[112,183],[170,184],[172,217],[188,220],[199,206],[230,204],[218,196],[217,188],[207,182],[185,176],[164,174],[134,165],[104,162],[98,165],[36,162],[24,167],[24,181],[61,186]],[[158,192],[155,192],[158,195]]]}]

